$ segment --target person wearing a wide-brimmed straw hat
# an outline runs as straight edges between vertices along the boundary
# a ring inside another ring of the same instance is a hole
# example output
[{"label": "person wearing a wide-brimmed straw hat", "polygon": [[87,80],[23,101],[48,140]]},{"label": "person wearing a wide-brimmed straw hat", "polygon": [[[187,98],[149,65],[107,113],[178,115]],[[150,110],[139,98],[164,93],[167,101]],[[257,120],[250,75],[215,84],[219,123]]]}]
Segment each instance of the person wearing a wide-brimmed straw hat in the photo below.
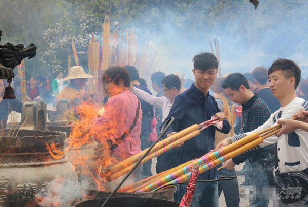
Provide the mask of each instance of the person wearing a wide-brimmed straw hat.
[{"label": "person wearing a wide-brimmed straw hat", "polygon": [[58,96],[58,100],[61,98],[69,98],[75,102],[77,100],[83,100],[81,90],[86,84],[86,78],[93,78],[94,76],[85,73],[81,66],[74,66],[70,68],[68,76],[63,78],[63,81],[70,80],[70,84],[64,88]]}]

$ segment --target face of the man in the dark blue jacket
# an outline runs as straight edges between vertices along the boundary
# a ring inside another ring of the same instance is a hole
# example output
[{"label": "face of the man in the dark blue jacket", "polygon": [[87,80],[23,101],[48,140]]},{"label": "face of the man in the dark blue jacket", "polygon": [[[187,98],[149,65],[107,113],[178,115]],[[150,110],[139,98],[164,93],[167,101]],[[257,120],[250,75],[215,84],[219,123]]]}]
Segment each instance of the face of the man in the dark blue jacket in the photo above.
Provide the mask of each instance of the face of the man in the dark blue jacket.
[{"label": "face of the man in the dark blue jacket", "polygon": [[198,69],[192,70],[195,76],[195,85],[199,89],[209,89],[211,85],[213,85],[217,69],[211,68],[206,71],[201,71]]}]

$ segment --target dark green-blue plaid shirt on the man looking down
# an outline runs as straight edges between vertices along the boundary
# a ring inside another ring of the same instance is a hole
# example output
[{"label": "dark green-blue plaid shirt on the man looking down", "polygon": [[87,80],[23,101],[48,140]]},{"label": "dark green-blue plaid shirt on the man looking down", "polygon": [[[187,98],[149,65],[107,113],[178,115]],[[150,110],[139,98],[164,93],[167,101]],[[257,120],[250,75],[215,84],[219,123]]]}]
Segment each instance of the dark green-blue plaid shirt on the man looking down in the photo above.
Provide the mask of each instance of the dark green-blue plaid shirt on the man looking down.
[{"label": "dark green-blue plaid shirt on the man looking down", "polygon": [[[246,104],[243,104],[242,107],[243,133],[251,132],[257,129],[259,126],[263,125],[263,123],[265,123],[265,121],[267,121],[269,119],[269,116],[271,115],[269,107],[261,98],[259,98],[258,94],[255,94],[251,99],[246,102]],[[268,157],[269,153],[274,153],[274,144],[271,144],[258,150],[242,153],[232,158],[232,161],[235,164],[240,164],[249,158],[254,158],[257,154],[260,155],[261,158]]]}]

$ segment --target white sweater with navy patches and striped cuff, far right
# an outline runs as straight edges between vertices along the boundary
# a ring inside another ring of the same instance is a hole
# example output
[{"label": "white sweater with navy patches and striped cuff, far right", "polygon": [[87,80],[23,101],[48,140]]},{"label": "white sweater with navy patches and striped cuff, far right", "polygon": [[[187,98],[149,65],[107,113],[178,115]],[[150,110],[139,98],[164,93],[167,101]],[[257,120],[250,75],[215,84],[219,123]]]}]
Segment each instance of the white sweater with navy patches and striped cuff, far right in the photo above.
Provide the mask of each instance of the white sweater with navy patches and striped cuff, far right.
[{"label": "white sweater with navy patches and striped cuff, far right", "polygon": [[[269,127],[277,125],[279,119],[290,119],[294,113],[300,109],[308,110],[308,101],[296,97],[287,106],[275,111],[271,117],[260,127],[252,132],[230,137],[234,142],[254,132],[261,132]],[[281,173],[288,171],[302,171],[308,168],[308,132],[304,130],[295,130],[294,132],[276,137],[270,136],[263,140],[259,146],[254,149],[265,147],[277,142],[278,169]]]}]

